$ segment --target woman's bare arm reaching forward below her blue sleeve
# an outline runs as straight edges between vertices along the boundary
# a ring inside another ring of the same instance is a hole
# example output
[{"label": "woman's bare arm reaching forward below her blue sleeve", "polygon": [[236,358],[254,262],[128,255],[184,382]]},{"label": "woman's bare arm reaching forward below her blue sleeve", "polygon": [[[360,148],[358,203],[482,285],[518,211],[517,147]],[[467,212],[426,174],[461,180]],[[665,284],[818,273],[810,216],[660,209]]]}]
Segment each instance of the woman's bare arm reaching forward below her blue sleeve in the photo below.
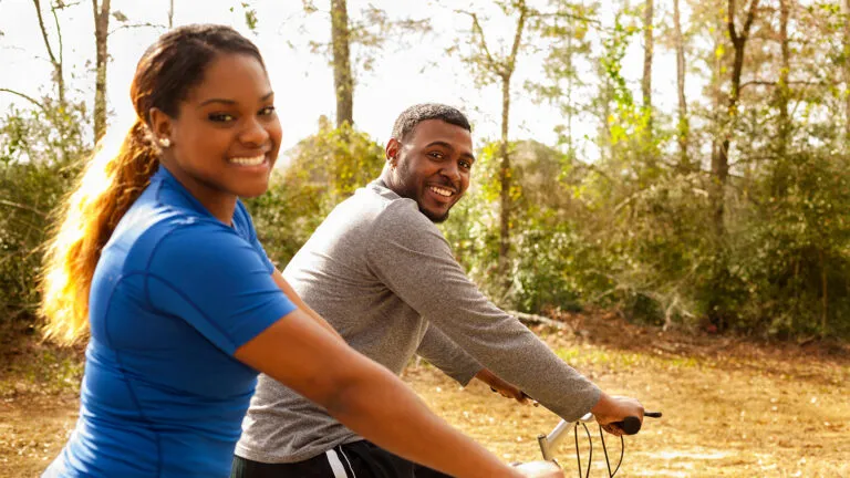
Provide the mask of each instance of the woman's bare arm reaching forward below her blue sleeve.
[{"label": "woman's bare arm reaching forward below her blue sleeve", "polygon": [[431,413],[398,377],[302,310],[269,326],[235,356],[398,456],[463,478],[522,476]]}]

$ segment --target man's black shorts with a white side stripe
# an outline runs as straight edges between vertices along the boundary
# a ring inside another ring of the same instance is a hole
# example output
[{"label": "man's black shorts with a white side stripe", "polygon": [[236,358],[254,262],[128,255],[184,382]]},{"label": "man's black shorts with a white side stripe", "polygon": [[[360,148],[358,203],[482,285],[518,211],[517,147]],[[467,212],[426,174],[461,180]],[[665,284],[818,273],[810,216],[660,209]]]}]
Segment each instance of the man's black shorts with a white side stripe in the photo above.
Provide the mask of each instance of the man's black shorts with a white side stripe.
[{"label": "man's black shorts with a white side stripe", "polygon": [[366,440],[339,445],[293,464],[265,464],[234,457],[230,478],[446,478]]}]

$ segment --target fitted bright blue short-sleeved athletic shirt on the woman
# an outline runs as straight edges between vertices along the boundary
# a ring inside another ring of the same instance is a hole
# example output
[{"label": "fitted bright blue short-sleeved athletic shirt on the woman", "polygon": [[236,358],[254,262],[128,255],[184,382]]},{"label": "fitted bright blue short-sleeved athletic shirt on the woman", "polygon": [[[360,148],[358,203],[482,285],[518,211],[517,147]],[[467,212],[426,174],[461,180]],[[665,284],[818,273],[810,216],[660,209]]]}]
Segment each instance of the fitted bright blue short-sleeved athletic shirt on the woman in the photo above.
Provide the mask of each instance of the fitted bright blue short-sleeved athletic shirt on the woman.
[{"label": "fitted bright blue short-sleeved athletic shirt on the woman", "polygon": [[45,477],[228,477],[257,371],[234,352],[296,309],[239,201],[216,219],[165,167],[103,249],[80,418]]}]

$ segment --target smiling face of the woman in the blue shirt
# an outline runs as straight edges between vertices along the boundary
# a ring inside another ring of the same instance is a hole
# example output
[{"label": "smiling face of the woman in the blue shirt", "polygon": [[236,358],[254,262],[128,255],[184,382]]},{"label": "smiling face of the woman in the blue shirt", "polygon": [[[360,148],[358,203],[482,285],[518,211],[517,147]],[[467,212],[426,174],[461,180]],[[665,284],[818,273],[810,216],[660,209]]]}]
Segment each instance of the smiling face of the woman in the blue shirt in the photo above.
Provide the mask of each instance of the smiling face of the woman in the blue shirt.
[{"label": "smiling face of the woman in the blue shirt", "polygon": [[280,149],[273,105],[269,79],[257,59],[218,55],[179,104],[176,117],[152,111],[157,141],[170,142],[163,164],[216,216],[237,196],[261,195]]}]

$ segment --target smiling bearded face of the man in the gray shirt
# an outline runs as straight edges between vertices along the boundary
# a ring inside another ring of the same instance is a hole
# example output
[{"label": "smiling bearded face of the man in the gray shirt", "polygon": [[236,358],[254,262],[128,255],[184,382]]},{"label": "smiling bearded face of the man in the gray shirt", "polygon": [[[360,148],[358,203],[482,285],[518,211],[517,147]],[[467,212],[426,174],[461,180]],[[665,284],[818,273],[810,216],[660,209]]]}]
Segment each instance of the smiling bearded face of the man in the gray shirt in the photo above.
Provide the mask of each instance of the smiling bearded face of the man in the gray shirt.
[{"label": "smiling bearded face of the man in the gray shirt", "polygon": [[448,210],[469,187],[473,138],[468,131],[442,119],[426,119],[401,142],[390,139],[386,154],[395,167],[390,187],[416,201],[434,222],[448,218]]}]

